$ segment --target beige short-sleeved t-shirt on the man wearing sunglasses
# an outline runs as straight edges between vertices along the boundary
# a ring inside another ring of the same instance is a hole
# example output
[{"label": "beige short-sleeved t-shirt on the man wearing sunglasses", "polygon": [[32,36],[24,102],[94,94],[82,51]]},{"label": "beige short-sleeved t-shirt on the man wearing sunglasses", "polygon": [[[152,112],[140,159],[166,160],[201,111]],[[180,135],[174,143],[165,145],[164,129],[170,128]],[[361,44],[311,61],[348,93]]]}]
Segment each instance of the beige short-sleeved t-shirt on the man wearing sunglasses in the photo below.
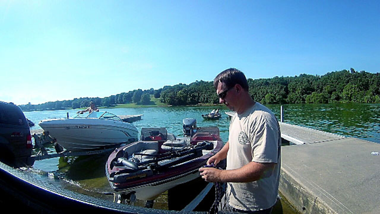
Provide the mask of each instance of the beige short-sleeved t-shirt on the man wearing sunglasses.
[{"label": "beige short-sleeved t-shirt on the man wearing sunglasses", "polygon": [[261,210],[277,200],[280,178],[281,134],[274,114],[256,102],[230,123],[226,169],[238,169],[250,161],[277,163],[271,176],[247,183],[229,182],[229,203],[236,209]]}]

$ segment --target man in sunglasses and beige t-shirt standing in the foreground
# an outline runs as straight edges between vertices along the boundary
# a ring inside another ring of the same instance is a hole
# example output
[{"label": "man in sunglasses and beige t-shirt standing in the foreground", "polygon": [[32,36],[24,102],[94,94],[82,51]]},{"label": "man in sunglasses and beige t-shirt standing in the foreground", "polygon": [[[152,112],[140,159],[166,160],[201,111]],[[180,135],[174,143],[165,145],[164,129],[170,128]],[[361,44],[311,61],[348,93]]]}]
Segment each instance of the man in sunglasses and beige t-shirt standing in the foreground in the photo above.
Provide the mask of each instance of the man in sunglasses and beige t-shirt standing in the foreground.
[{"label": "man in sunglasses and beige t-shirt standing in the foreground", "polygon": [[224,211],[270,214],[280,178],[279,123],[271,110],[252,99],[240,70],[219,73],[214,87],[219,102],[236,114],[230,122],[228,141],[207,160],[208,165],[216,165],[226,159],[226,170],[203,167],[200,176],[207,182],[227,183]]}]

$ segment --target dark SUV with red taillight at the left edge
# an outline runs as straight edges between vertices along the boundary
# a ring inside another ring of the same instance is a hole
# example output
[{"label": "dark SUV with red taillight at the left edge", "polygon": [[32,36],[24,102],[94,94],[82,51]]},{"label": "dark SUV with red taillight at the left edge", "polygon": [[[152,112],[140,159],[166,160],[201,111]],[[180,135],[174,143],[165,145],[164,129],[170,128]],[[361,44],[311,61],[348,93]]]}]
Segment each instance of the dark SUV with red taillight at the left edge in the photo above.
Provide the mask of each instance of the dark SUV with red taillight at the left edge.
[{"label": "dark SUV with red taillight at the left edge", "polygon": [[17,105],[0,101],[0,161],[15,168],[31,165],[32,137]]}]

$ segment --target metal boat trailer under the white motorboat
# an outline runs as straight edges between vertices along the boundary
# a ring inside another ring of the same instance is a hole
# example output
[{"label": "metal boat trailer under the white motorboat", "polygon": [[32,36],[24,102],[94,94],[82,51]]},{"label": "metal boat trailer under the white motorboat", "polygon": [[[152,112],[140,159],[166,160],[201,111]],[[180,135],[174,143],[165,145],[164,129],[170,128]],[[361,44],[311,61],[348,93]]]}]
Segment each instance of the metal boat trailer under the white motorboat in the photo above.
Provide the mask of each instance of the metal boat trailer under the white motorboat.
[{"label": "metal boat trailer under the white motorboat", "polygon": [[[33,139],[35,142],[35,149],[39,149],[36,155],[30,157],[31,163],[34,163],[36,160],[44,160],[47,158],[56,158],[56,157],[67,157],[67,156],[82,156],[82,155],[95,155],[106,152],[111,152],[115,148],[100,149],[100,150],[91,150],[91,151],[82,151],[82,152],[71,152],[65,150],[61,145],[57,143],[57,139],[51,137],[49,132],[43,132],[41,134],[33,134]],[[48,153],[45,146],[47,144],[53,144],[55,153]]]}]

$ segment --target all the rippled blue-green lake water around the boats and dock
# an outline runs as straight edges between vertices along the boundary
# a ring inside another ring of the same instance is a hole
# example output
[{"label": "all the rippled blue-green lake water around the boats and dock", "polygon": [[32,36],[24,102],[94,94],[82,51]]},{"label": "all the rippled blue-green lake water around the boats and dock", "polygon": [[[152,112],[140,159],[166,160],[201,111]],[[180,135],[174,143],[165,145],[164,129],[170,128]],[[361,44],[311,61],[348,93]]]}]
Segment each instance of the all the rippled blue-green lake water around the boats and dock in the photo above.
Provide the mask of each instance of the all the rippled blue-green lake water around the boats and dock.
[{"label": "all the rippled blue-green lake water around the boats and dock", "polygon": [[[280,105],[266,105],[276,117],[280,118]],[[380,143],[380,104],[292,104],[283,105],[284,122],[294,125],[314,128],[346,137],[358,137],[368,141]],[[224,112],[230,111],[220,108],[222,118],[216,121],[203,120],[202,114],[210,112],[215,107],[150,107],[136,109],[100,109],[116,115],[140,115],[142,120],[133,122],[138,130],[143,127],[165,127],[169,133],[182,135],[182,119],[195,118],[198,127],[218,126],[223,142],[228,140],[228,126],[230,120]],[[65,118],[67,112],[74,116],[77,110],[55,110],[24,112],[25,116],[36,123],[31,128],[40,129],[38,122],[45,118]],[[82,157],[61,157],[36,161],[34,168],[45,172],[54,172],[58,177],[67,179],[68,188],[87,195],[112,200],[103,192],[111,192],[105,177],[104,164],[107,155],[92,155]],[[160,201],[161,200],[161,201]],[[165,199],[155,201],[155,207],[165,208]],[[157,205],[158,204],[158,205]],[[288,212],[292,213],[292,212]]]}]

